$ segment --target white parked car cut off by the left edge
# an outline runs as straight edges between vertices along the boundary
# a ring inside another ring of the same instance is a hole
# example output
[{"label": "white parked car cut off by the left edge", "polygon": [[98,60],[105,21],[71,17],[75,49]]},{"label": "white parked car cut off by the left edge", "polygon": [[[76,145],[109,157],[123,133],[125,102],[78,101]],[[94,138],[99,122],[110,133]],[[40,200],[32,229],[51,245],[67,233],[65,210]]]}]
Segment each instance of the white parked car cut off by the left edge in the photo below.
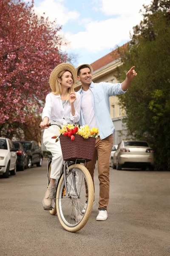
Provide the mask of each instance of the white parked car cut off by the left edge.
[{"label": "white parked car cut off by the left edge", "polygon": [[0,137],[0,174],[3,174],[4,178],[16,174],[17,166],[17,149],[14,148],[11,140]]}]

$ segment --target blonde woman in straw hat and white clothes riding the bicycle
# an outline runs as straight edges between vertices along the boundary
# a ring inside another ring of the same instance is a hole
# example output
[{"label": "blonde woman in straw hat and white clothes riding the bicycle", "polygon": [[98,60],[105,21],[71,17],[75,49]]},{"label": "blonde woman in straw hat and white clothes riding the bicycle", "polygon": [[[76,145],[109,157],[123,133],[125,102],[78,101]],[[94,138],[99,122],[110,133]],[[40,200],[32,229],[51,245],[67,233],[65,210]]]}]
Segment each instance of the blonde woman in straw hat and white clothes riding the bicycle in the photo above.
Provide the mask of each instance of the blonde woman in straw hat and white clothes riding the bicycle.
[{"label": "blonde woman in straw hat and white clothes riding the bicycle", "polygon": [[55,180],[59,178],[62,167],[62,151],[59,141],[51,139],[59,135],[59,127],[53,125],[47,127],[48,122],[57,122],[59,125],[65,123],[76,123],[80,118],[80,94],[74,92],[74,84],[77,80],[75,68],[68,63],[59,64],[50,75],[49,83],[52,92],[46,96],[45,107],[42,112],[40,127],[44,128],[43,143],[51,152],[53,158],[51,163],[50,184],[43,198],[43,206],[51,207],[52,197],[55,192]]}]

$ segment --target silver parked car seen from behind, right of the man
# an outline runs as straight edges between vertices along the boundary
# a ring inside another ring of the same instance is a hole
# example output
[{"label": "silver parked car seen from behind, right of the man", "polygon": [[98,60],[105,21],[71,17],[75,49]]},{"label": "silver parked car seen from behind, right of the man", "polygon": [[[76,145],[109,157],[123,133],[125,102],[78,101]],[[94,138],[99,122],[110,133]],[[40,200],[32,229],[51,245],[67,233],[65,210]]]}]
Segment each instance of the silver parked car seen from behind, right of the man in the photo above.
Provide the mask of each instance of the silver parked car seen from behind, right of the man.
[{"label": "silver parked car seen from behind, right of the man", "polygon": [[154,169],[153,149],[146,141],[122,140],[113,155],[113,168]]}]

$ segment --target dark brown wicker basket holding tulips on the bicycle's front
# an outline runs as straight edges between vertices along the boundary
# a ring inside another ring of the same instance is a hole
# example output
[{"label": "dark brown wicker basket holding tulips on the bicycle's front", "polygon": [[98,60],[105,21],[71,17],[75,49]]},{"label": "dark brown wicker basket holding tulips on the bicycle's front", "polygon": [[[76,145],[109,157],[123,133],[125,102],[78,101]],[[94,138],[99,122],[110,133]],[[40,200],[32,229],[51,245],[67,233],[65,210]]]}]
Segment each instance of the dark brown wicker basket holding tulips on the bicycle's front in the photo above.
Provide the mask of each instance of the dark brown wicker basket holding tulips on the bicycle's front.
[{"label": "dark brown wicker basket holding tulips on the bicycle's front", "polygon": [[75,139],[60,135],[59,141],[62,149],[63,160],[75,161],[77,158],[85,159],[86,162],[91,161],[94,154],[94,146],[96,138],[89,137],[84,139],[79,134],[74,134]]}]

